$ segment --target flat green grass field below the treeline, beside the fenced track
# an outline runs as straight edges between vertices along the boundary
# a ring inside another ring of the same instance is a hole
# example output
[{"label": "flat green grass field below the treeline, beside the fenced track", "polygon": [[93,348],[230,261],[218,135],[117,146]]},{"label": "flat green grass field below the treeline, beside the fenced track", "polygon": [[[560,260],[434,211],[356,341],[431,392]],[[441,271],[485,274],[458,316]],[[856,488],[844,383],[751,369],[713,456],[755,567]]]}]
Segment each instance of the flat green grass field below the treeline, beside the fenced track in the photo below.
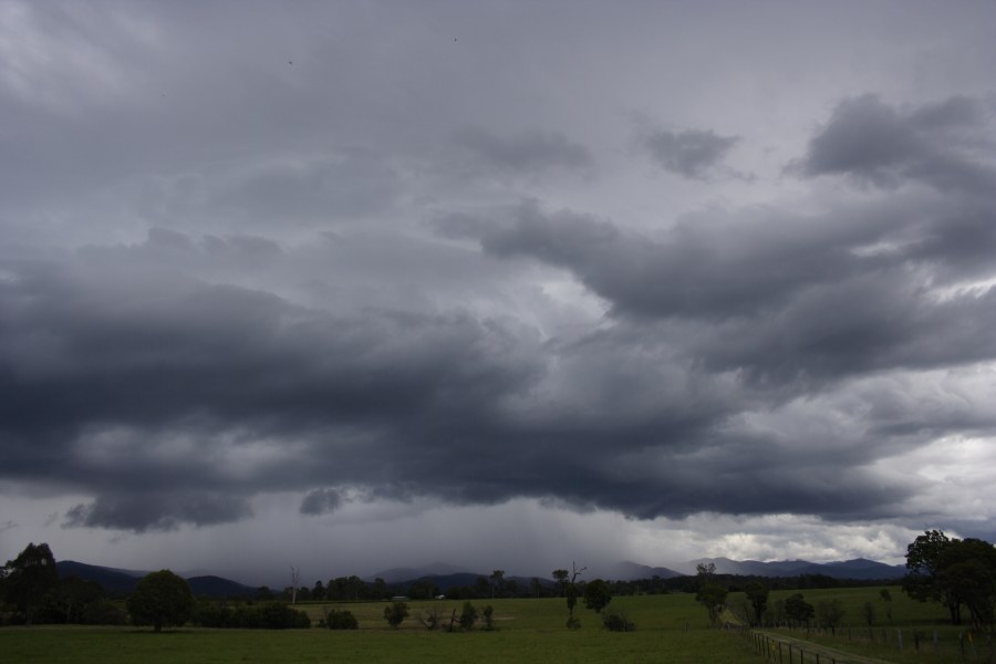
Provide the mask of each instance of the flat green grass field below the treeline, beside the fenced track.
[{"label": "flat green grass field below the treeline, beside the fenced track", "polygon": [[[772,601],[791,593],[772,593]],[[861,622],[861,606],[865,601],[883,605],[879,589],[843,589],[805,591],[807,601],[840,599],[847,616],[844,624],[857,631]],[[892,590],[892,623],[884,609],[879,616],[888,630],[916,626],[933,630],[945,618],[940,606],[920,604]],[[743,595],[730,595],[736,609]],[[383,602],[355,604],[301,604],[313,620],[322,615],[323,606],[347,608],[360,620],[360,630],[335,632],[324,629],[294,631],[245,631],[183,629],[163,634],[134,627],[33,626],[0,629],[0,653],[3,662],[114,664],[143,662],[148,664],[184,662],[199,663],[288,663],[288,662],[475,662],[475,663],[537,663],[584,664],[603,662],[667,662],[710,663],[764,662],[751,645],[735,633],[707,629],[706,612],[692,595],[652,595],[615,598],[610,609],[623,610],[636,623],[636,631],[612,633],[601,629],[599,616],[579,605],[575,613],[581,629],[564,626],[567,608],[561,599],[477,601],[478,609],[495,606],[494,632],[447,633],[429,632],[417,621],[419,612],[443,609],[447,619],[454,609],[459,613],[463,602],[409,602],[411,616],[398,630],[392,630],[383,619]],[[444,621],[444,624],[447,621]],[[878,625],[875,629],[880,629]],[[956,634],[951,627],[940,627],[948,641]],[[865,626],[867,631],[867,626]],[[776,633],[777,631],[769,631]],[[824,647],[848,651],[890,662],[945,662],[950,654],[934,655],[926,650],[914,653],[912,631],[910,647],[900,652],[895,644],[864,643],[852,635],[830,637],[807,632],[785,632],[786,637],[821,643]],[[977,653],[982,655],[983,653]],[[946,657],[946,658],[945,658]],[[842,658],[837,660],[839,663]],[[983,660],[978,660],[983,661]]]}]

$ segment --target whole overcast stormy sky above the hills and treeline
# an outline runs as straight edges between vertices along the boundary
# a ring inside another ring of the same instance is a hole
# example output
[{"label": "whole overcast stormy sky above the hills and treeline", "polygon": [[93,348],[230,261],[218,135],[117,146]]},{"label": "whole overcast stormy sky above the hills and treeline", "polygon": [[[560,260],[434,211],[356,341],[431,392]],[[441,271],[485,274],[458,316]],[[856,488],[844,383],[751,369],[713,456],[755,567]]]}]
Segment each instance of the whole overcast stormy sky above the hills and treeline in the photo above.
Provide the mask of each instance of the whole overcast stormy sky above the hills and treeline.
[{"label": "whole overcast stormy sky above the hills and treeline", "polygon": [[993,541],[994,27],[0,1],[0,560],[310,584]]}]

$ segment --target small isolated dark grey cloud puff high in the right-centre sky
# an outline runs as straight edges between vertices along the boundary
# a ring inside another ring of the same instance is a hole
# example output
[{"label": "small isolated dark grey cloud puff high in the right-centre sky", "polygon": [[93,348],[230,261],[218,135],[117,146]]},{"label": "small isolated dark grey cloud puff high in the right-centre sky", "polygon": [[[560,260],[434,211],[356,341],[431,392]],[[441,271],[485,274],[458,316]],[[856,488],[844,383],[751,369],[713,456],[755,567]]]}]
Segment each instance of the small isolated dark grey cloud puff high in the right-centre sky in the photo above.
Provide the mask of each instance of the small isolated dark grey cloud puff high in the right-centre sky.
[{"label": "small isolated dark grey cloud puff high in the right-centre sky", "polygon": [[735,175],[720,167],[739,136],[719,136],[701,129],[667,132],[646,129],[637,142],[664,170],[687,178],[707,180],[717,175]]}]

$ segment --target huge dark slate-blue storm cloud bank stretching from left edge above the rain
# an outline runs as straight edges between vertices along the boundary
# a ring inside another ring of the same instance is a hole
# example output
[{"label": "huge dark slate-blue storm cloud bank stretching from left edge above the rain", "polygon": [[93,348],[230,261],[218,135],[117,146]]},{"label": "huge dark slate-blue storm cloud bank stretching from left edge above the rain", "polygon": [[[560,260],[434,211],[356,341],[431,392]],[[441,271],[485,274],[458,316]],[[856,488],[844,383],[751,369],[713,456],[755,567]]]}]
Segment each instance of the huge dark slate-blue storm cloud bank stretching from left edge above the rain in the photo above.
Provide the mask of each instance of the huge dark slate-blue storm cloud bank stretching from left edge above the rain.
[{"label": "huge dark slate-blue storm cloud bank stretching from left edge above the rain", "polygon": [[[154,234],[132,251],[185,246]],[[342,505],[342,486],[371,500],[527,496],[641,518],[826,511],[831,498],[829,475],[717,491],[718,475],[767,477],[767,444],[755,461],[724,455],[737,440],[724,423],[744,397],[695,369],[687,341],[639,326],[541,345],[526,328],[464,314],[331,315],[154,270],[124,248],[7,269],[3,471],[92,491],[70,526],[237,520],[276,490],[307,491],[300,510],[318,515]],[[834,513],[906,490],[852,483]]]}]

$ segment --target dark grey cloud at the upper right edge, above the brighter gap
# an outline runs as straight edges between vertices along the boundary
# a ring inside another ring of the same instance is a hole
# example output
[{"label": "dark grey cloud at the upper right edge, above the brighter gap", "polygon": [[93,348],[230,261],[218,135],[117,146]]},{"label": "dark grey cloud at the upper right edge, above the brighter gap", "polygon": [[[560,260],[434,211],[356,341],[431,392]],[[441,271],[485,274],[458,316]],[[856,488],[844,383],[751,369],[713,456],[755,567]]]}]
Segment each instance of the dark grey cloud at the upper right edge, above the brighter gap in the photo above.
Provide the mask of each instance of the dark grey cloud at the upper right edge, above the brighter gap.
[{"label": "dark grey cloud at the upper right edge, above the brighter gap", "polygon": [[896,108],[876,95],[845,100],[809,142],[791,169],[806,176],[848,175],[876,187],[922,181],[942,190],[990,195],[993,110],[953,97]]}]

